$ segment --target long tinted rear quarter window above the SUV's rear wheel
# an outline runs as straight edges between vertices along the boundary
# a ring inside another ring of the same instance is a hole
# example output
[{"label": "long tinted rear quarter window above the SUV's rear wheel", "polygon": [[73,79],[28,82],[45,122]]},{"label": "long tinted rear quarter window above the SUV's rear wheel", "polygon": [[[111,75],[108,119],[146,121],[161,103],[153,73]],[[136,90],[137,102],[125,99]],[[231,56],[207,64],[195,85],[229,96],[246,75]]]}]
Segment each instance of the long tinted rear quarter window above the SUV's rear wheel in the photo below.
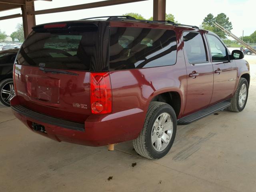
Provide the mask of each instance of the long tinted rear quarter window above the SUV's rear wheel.
[{"label": "long tinted rear quarter window above the SUV's rear wheel", "polygon": [[174,65],[176,51],[174,30],[110,28],[110,70]]}]

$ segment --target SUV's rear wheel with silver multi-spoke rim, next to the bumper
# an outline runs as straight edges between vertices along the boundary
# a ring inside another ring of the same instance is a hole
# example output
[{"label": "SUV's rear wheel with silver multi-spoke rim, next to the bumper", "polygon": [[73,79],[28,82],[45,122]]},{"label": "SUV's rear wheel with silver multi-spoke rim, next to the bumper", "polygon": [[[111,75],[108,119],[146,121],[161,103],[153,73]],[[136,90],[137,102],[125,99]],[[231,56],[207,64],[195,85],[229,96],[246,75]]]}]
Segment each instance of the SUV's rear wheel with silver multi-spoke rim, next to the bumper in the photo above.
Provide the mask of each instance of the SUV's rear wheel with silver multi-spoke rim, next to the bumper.
[{"label": "SUV's rear wheel with silver multi-spoke rim, next to the bumper", "polygon": [[177,128],[173,108],[163,102],[151,102],[138,138],[132,141],[138,154],[149,159],[165,156],[172,147]]}]

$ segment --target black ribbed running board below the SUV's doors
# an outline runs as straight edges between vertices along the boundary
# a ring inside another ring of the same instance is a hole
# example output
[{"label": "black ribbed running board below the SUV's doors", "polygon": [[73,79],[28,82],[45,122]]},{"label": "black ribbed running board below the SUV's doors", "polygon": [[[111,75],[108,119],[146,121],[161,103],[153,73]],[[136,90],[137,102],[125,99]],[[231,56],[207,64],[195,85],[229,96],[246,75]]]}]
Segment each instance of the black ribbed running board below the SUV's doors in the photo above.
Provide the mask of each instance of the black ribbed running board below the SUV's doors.
[{"label": "black ribbed running board below the SUV's doors", "polygon": [[222,110],[230,106],[229,101],[222,101],[220,103],[217,103],[215,105],[212,105],[208,108],[202,109],[198,112],[192,113],[188,116],[182,117],[178,119],[178,125],[187,125],[190,124],[196,120],[202,119],[210,114],[213,114],[216,111]]}]

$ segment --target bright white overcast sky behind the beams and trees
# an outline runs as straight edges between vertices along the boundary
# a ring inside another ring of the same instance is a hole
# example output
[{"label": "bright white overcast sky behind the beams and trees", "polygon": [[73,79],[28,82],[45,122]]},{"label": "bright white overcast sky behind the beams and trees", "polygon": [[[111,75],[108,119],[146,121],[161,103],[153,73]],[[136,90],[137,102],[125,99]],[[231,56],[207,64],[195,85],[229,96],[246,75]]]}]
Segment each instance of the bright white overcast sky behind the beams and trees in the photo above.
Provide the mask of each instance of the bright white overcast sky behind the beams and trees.
[{"label": "bright white overcast sky behind the beams and trees", "polygon": [[[57,8],[62,6],[71,6],[96,2],[100,0],[52,0],[35,1],[35,10]],[[200,26],[204,17],[212,13],[217,16],[225,13],[232,22],[231,30],[236,36],[249,36],[256,30],[255,18],[256,0],[166,0],[166,13],[173,14],[175,20],[182,24]],[[60,12],[53,14],[36,15],[36,24],[48,22],[58,22],[65,20],[78,20],[96,16],[122,15],[128,12],[136,12],[148,19],[153,16],[153,0],[121,4],[115,6],[106,6],[101,8],[92,8],[85,10],[76,10],[69,12]],[[0,12],[0,16],[21,13],[20,9]],[[0,20],[0,30],[10,35],[16,30],[16,25],[22,23],[22,18]]]}]

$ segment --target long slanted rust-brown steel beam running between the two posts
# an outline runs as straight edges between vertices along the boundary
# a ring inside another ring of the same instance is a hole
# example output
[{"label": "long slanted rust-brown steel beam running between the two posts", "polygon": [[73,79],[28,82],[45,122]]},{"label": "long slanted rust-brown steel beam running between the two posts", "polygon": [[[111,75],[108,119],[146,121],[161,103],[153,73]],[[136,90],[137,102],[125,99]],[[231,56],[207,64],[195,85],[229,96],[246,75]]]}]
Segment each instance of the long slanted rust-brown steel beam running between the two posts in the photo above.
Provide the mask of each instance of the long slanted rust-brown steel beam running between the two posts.
[{"label": "long slanted rust-brown steel beam running between the two posts", "polygon": [[139,1],[146,1],[146,0],[106,0],[106,1],[99,1],[99,2],[93,2],[93,3],[80,4],[80,5],[73,5],[68,7],[59,7],[59,8],[52,8],[52,9],[46,9],[46,10],[30,11],[28,13],[34,14],[34,15],[58,13],[58,12],[65,12],[65,11],[74,11],[74,10],[118,5],[118,4],[124,4],[124,3],[139,2]]}]

